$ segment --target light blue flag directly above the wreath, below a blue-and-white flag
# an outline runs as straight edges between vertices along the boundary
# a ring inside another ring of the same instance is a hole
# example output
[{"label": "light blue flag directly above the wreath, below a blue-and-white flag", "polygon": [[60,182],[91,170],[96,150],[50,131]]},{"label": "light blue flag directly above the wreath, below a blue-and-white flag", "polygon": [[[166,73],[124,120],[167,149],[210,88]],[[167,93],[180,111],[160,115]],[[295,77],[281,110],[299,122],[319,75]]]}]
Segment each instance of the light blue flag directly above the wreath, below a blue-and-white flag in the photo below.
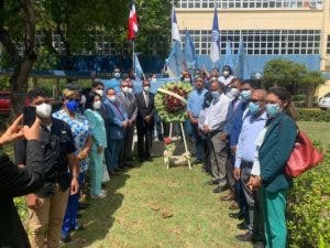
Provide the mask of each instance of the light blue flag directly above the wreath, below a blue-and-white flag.
[{"label": "light blue flag directly above the wreath, below a blue-and-white flag", "polygon": [[168,55],[168,58],[166,60],[166,65],[168,74],[170,76],[180,76],[184,65],[184,54],[182,51],[182,44],[178,41],[175,41],[173,43],[170,53]]}]

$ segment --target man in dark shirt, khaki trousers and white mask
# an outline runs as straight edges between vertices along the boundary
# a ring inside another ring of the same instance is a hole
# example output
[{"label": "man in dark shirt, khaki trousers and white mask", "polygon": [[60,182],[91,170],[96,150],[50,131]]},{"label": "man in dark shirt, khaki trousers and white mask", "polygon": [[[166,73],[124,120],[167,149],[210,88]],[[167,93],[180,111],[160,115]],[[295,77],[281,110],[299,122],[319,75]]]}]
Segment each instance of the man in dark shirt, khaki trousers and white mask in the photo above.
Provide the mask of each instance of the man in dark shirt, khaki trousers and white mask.
[{"label": "man in dark shirt, khaki trousers and white mask", "polygon": [[[42,89],[28,93],[31,106],[41,119],[41,144],[44,155],[45,181],[42,188],[26,196],[29,238],[32,248],[59,246],[61,227],[69,194],[78,192],[79,163],[70,127],[52,118],[52,105]],[[26,164],[26,140],[14,143],[14,161]],[[70,174],[68,173],[70,171]]]}]

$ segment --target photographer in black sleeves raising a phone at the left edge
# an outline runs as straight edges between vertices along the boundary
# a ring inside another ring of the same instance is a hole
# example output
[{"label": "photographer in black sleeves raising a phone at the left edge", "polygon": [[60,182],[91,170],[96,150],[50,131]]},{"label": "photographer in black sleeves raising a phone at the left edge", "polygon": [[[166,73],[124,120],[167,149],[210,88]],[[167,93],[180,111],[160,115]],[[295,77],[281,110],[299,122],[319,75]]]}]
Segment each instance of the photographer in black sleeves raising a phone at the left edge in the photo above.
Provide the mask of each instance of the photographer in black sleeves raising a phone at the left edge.
[{"label": "photographer in black sleeves raising a phone at the left edge", "polygon": [[40,119],[36,118],[31,128],[22,130],[20,116],[0,137],[0,147],[19,138],[25,138],[26,166],[18,168],[8,155],[0,152],[0,247],[30,247],[24,227],[21,223],[13,197],[29,194],[43,185],[44,160],[40,139]]}]

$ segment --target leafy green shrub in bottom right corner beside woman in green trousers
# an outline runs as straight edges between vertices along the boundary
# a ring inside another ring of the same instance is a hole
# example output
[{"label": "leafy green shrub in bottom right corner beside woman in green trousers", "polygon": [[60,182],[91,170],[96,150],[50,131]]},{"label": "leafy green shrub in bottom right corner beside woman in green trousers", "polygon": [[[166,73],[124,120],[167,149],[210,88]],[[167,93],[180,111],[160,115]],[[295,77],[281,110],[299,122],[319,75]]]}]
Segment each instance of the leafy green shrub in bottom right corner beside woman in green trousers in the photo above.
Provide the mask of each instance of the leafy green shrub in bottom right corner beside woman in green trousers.
[{"label": "leafy green shrub in bottom right corner beside woman in green trousers", "polygon": [[288,196],[290,248],[330,247],[330,150],[316,169],[294,180]]}]

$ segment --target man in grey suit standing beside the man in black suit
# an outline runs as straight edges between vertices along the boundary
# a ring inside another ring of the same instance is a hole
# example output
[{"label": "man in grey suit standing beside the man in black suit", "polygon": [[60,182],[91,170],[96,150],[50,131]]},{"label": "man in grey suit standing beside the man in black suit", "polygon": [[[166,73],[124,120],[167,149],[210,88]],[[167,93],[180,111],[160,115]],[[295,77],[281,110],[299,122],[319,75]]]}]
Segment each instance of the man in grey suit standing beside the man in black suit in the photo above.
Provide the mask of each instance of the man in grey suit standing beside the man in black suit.
[{"label": "man in grey suit standing beside the man in black suit", "polygon": [[121,93],[118,94],[117,98],[120,105],[122,106],[123,110],[128,114],[129,123],[124,132],[123,137],[123,148],[120,152],[120,168],[124,166],[132,166],[129,163],[131,153],[132,153],[132,143],[133,143],[133,136],[134,136],[134,123],[138,116],[138,108],[135,96],[130,93],[131,80],[129,77],[124,78],[121,82]]}]

